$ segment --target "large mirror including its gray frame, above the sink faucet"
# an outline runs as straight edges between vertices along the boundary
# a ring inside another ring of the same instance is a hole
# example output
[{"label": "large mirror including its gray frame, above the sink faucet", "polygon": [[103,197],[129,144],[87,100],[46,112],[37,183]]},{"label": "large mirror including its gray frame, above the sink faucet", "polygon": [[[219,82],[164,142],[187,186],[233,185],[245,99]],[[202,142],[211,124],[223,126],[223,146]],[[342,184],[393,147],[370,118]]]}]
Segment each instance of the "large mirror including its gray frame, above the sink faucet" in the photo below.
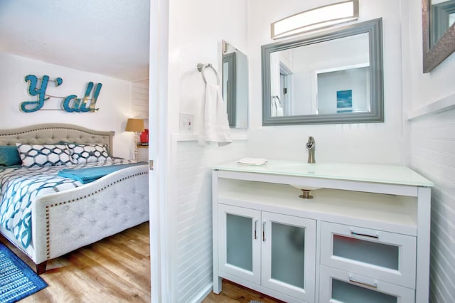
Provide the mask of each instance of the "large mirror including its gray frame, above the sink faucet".
[{"label": "large mirror including its gray frame, above the sink faucet", "polygon": [[382,18],[262,46],[262,124],[384,122]]}]

